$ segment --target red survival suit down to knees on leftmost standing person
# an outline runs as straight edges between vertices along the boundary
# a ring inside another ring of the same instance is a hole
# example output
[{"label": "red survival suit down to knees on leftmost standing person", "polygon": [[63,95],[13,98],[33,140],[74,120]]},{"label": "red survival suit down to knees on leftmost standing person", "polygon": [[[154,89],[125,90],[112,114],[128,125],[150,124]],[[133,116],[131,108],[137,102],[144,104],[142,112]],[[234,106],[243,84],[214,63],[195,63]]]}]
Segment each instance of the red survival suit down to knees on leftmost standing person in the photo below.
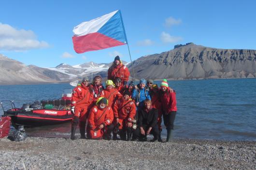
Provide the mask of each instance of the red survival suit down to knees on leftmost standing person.
[{"label": "red survival suit down to knees on leftmost standing person", "polygon": [[89,87],[85,87],[83,83],[73,89],[71,106],[75,106],[74,116],[79,117],[80,121],[85,122],[88,114],[87,110],[93,102]]}]

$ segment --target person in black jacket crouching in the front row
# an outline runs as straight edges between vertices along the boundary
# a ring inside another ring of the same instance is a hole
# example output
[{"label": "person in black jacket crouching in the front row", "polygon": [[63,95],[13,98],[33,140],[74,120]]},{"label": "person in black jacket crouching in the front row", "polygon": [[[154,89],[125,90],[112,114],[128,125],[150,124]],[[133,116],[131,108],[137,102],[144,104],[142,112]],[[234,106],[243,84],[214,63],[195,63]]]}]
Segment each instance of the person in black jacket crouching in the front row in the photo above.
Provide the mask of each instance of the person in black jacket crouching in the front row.
[{"label": "person in black jacket crouching in the front row", "polygon": [[138,127],[135,132],[135,140],[146,141],[148,134],[153,134],[154,139],[150,142],[155,142],[158,139],[159,130],[157,126],[158,110],[152,107],[151,100],[143,101],[144,108],[139,110]]}]

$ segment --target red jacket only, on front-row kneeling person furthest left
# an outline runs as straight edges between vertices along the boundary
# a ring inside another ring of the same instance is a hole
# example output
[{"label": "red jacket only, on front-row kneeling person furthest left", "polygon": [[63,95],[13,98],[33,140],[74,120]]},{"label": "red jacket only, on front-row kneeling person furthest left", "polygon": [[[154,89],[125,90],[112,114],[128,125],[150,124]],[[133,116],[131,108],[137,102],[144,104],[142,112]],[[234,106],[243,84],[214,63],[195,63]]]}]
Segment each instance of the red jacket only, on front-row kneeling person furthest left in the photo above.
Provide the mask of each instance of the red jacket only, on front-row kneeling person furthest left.
[{"label": "red jacket only, on front-row kneeling person furthest left", "polygon": [[113,115],[113,110],[111,107],[99,109],[97,105],[93,106],[88,117],[88,125],[90,129],[95,130],[102,123],[105,125],[110,125],[113,121],[111,115]]}]

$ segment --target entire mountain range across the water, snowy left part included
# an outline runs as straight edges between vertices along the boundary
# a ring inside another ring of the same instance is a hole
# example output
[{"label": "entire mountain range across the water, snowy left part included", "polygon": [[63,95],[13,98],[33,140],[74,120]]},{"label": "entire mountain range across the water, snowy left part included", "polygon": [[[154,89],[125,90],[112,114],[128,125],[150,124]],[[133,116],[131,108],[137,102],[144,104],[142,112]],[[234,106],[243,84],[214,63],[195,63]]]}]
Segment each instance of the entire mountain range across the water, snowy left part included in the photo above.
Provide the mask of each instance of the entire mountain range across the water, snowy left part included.
[{"label": "entire mountain range across the water, snowy left part included", "polygon": [[[132,73],[131,63],[126,63]],[[256,50],[225,50],[186,43],[173,50],[147,55],[132,62],[135,77],[152,79],[255,78]],[[0,84],[59,83],[100,75],[107,78],[112,63],[62,63],[41,68],[0,54]],[[132,76],[132,74],[131,74]]]}]

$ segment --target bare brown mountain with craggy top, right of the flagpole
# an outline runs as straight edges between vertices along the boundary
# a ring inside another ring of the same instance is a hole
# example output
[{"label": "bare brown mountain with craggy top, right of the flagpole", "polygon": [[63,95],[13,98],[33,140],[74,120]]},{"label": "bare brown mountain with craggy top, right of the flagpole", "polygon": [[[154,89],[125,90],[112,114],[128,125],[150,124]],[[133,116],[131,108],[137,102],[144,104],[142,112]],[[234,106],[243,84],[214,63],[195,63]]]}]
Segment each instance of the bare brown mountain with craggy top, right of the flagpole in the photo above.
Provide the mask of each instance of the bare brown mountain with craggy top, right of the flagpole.
[{"label": "bare brown mountain with craggy top, right of the flagpole", "polygon": [[[136,78],[255,78],[256,50],[225,50],[186,43],[132,62]],[[131,70],[131,64],[128,65]]]}]

